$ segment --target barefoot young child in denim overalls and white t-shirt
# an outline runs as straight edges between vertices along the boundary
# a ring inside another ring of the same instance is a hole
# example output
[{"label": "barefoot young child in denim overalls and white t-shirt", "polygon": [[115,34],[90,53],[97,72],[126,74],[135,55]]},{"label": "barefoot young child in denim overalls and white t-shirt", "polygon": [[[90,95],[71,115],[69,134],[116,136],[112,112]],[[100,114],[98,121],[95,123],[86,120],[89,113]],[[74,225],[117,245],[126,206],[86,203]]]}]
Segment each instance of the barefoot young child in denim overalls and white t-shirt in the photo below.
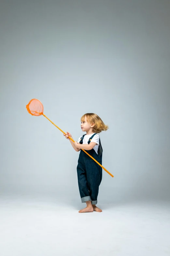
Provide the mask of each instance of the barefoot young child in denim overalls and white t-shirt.
[{"label": "barefoot young child in denim overalls and white t-shirt", "polygon": [[[86,113],[81,117],[81,129],[86,134],[80,136],[78,142],[70,140],[71,145],[77,152],[80,149],[84,149],[102,165],[103,149],[100,143],[100,136],[97,133],[106,131],[108,126],[104,124],[98,115]],[[66,139],[69,139],[68,137],[72,138],[69,132],[64,133],[64,136]],[[102,181],[102,167],[83,150],[80,151],[78,158],[77,175],[81,202],[86,202],[87,204],[87,207],[80,210],[79,213],[102,212],[96,206],[99,185]]]}]

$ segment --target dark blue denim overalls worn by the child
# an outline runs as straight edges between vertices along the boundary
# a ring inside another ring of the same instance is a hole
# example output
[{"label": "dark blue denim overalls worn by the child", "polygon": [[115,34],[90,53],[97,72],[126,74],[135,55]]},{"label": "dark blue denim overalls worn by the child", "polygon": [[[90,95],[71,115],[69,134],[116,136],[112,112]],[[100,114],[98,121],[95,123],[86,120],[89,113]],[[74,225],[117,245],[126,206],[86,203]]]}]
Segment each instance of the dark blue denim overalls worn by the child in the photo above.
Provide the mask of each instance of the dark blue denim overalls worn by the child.
[{"label": "dark blue denim overalls worn by the child", "polygon": [[[91,142],[94,135],[89,139],[88,144]],[[83,138],[81,137],[80,144],[83,144]],[[102,165],[102,145],[99,139],[98,155],[95,150],[86,150],[97,162]],[[92,204],[97,204],[97,196],[99,192],[99,185],[102,181],[102,167],[96,163],[90,156],[88,156],[83,150],[80,150],[77,166],[78,175],[78,188],[80,192],[81,202],[92,201]]]}]

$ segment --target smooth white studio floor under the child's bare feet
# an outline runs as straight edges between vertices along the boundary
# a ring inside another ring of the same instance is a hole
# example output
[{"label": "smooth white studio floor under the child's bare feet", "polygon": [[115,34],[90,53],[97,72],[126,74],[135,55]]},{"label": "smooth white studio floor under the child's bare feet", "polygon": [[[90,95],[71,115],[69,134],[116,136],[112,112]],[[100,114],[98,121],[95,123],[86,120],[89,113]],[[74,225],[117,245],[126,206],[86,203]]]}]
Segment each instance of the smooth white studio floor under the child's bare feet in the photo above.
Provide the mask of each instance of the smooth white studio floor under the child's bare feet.
[{"label": "smooth white studio floor under the child's bare feet", "polygon": [[170,255],[170,201],[105,203],[102,213],[59,195],[0,195],[1,256]]}]

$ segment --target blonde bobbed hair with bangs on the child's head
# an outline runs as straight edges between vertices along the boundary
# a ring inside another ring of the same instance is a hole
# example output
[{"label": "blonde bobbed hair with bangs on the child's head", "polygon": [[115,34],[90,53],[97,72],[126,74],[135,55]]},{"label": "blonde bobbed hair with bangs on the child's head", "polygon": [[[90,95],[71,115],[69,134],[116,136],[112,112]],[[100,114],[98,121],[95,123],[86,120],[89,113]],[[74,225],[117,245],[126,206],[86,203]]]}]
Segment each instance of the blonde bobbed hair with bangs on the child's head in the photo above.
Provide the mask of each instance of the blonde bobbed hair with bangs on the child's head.
[{"label": "blonde bobbed hair with bangs on the child's head", "polygon": [[84,114],[81,117],[81,122],[84,122],[85,116],[88,123],[94,123],[94,126],[92,128],[94,133],[100,133],[101,131],[106,131],[109,128],[108,125],[105,125],[102,119],[94,113]]}]

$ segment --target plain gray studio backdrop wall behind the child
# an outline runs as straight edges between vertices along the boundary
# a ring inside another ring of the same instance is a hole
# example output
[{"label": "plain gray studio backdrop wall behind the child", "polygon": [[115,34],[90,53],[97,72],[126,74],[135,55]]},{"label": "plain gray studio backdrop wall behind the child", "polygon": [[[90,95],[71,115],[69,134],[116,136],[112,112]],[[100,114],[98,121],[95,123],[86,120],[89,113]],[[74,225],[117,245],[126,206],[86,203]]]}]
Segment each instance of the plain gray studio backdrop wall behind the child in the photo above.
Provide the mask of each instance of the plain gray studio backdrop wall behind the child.
[{"label": "plain gray studio backdrop wall behind the child", "polygon": [[[80,201],[74,140],[98,114],[98,199],[169,199],[170,1],[1,1],[0,192]],[[78,201],[78,202],[79,202]]]}]

